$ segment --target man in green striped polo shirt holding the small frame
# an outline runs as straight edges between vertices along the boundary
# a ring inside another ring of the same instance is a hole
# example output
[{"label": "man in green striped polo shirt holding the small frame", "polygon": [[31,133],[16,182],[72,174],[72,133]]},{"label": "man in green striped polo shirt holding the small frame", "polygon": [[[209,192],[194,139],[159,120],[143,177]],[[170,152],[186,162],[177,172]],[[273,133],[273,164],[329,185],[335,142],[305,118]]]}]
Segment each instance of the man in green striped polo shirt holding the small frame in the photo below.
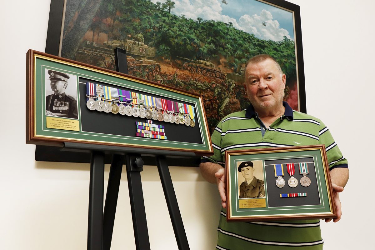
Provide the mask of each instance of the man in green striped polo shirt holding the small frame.
[{"label": "man in green striped polo shirt holding the small frame", "polygon": [[201,160],[203,177],[217,184],[222,200],[216,249],[323,249],[319,220],[226,222],[223,168],[226,150],[324,144],[338,213],[333,221],[341,218],[339,192],[349,178],[348,162],[321,120],[293,111],[282,101],[285,79],[281,67],[269,55],[251,58],[245,67],[244,87],[252,105],[217,124],[211,136],[214,155]]}]

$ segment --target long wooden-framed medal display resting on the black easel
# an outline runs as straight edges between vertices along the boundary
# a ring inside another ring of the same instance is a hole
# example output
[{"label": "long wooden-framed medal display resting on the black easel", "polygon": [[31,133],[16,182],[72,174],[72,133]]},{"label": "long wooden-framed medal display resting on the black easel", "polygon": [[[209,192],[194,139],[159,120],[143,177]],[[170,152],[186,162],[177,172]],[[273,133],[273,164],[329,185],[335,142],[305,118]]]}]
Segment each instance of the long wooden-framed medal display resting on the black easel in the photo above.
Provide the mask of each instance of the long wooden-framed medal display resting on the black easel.
[{"label": "long wooden-framed medal display resting on the black easel", "polygon": [[201,95],[29,50],[26,142],[213,153]]}]

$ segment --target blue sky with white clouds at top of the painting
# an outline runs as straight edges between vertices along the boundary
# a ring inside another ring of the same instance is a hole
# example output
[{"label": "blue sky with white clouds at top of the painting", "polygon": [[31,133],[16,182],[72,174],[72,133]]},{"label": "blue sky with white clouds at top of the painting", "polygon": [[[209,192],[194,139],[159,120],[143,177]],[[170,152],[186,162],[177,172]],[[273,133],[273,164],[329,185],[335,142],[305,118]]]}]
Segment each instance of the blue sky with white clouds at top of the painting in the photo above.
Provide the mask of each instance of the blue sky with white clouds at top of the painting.
[{"label": "blue sky with white clouds at top of the painting", "polygon": [[[151,0],[164,3],[166,0]],[[294,40],[293,14],[257,0],[172,0],[172,13],[186,18],[232,22],[239,30],[265,40]],[[262,23],[265,22],[266,26]]]}]

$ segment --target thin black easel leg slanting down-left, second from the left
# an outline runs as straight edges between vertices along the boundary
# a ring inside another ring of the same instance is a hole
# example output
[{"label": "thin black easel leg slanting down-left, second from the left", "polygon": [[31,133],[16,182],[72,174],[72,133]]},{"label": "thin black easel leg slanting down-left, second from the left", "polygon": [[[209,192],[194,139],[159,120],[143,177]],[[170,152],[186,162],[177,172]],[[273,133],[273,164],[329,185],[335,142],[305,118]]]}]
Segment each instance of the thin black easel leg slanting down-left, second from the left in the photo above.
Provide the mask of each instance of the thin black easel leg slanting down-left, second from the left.
[{"label": "thin black easel leg slanting down-left, second from the left", "polygon": [[110,176],[108,178],[107,195],[103,214],[103,250],[111,249],[113,225],[116,214],[118,190],[120,188],[122,163],[124,156],[114,154],[112,156]]}]

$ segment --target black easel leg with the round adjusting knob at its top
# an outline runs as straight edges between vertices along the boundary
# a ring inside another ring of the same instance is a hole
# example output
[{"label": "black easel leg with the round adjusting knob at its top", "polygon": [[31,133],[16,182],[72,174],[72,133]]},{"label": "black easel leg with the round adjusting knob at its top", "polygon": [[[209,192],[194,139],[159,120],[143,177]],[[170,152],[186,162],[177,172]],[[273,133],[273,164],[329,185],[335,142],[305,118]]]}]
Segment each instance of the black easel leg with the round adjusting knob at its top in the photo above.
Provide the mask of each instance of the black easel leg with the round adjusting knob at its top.
[{"label": "black easel leg with the round adjusting knob at its top", "polygon": [[[129,186],[130,208],[132,210],[135,247],[137,250],[150,250],[146,212],[141,183],[142,168],[135,165],[136,155],[126,155],[127,184]],[[143,163],[142,163],[143,164]]]}]

